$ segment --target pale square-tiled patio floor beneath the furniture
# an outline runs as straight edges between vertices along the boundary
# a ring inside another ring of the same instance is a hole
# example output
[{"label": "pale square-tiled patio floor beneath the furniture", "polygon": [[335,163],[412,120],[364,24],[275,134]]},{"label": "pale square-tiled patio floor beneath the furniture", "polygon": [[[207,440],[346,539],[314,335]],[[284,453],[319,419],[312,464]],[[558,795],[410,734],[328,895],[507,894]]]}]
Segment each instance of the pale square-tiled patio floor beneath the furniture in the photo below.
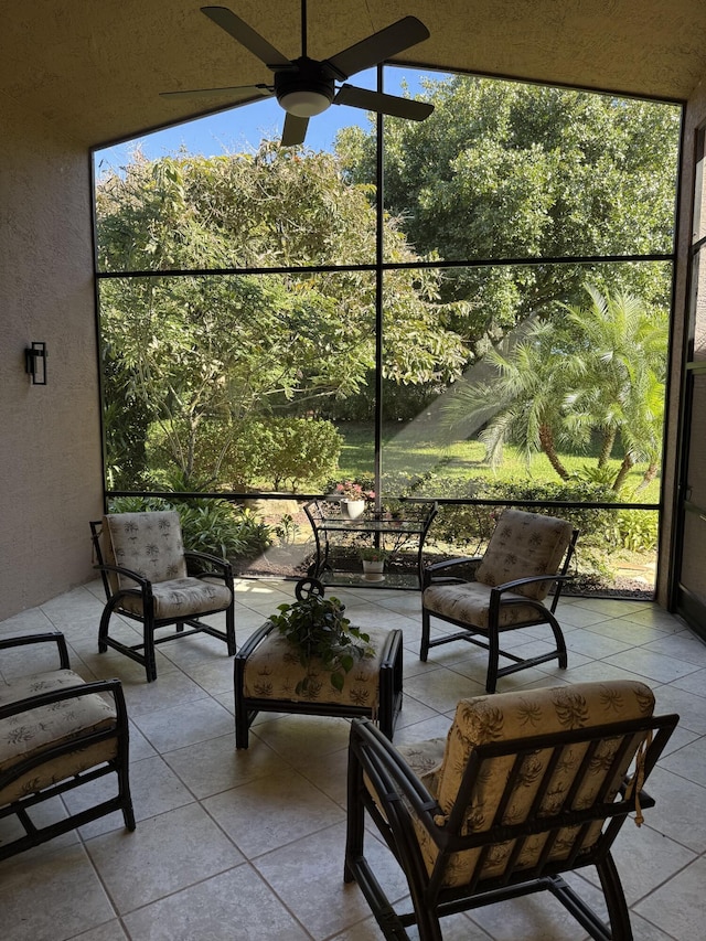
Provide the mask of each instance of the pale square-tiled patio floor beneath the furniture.
[{"label": "pale square-tiled patio floor beneath the furniture", "polygon": [[[292,590],[291,582],[240,581],[238,643]],[[405,703],[395,741],[445,734],[456,702],[483,692],[482,652],[449,645],[432,650],[422,664],[416,592],[335,594],[355,623],[404,631]],[[162,645],[158,681],[148,685],[127,657],[97,653],[100,597],[99,582],[78,588],[10,618],[0,631],[57,628],[82,676],[122,680],[137,830],[126,833],[114,814],[0,864],[2,941],[381,938],[357,887],[342,880],[346,720],[260,715],[249,749],[236,752],[232,661],[224,645],[205,637]],[[617,858],[635,939],[706,938],[706,645],[646,602],[566,599],[559,616],[569,669],[544,664],[506,677],[502,688],[638,676],[655,689],[659,712],[680,713],[652,778],[657,806],[642,828],[624,826]],[[542,633],[535,633],[517,634],[520,643],[541,648]],[[25,657],[6,654],[3,672],[33,672],[36,663],[30,669]],[[77,800],[66,796],[72,808]],[[56,803],[51,812],[65,812]],[[371,840],[371,851],[402,897],[404,884],[386,848]],[[576,878],[596,894],[588,879]],[[544,896],[445,924],[447,941],[582,937],[558,902]]]}]

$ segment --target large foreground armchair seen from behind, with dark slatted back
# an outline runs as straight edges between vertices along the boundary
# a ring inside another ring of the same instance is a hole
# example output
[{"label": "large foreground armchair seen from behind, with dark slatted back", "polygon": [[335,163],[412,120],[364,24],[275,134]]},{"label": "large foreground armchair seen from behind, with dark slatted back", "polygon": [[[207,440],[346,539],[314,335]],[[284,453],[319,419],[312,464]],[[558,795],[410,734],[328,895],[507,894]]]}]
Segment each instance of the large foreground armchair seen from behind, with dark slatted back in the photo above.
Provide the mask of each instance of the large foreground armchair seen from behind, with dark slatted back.
[{"label": "large foreground armchair seen from behind, with dark slatted back", "polygon": [[[385,938],[416,924],[420,941],[440,941],[447,915],[546,889],[591,938],[631,941],[611,846],[629,814],[641,822],[654,805],[642,787],[678,717],[653,717],[653,704],[628,681],[480,696],[459,703],[446,740],[398,748],[354,719],[344,877]],[[410,905],[393,906],[365,856],[366,814]],[[588,866],[610,924],[564,878]]]}]

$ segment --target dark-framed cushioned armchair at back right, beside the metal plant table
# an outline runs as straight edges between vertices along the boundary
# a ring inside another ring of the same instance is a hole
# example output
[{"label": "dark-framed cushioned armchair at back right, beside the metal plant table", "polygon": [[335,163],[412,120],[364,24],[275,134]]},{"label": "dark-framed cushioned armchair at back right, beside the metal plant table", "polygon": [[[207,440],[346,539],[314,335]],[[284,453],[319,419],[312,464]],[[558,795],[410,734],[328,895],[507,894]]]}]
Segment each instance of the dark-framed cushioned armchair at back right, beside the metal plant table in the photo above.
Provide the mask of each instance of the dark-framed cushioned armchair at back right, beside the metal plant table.
[{"label": "dark-framed cushioned armchair at back right, beside the metal plant table", "polygon": [[[578,531],[565,520],[505,510],[498,521],[485,554],[454,558],[425,569],[421,595],[421,645],[426,661],[430,648],[463,640],[488,650],[485,689],[494,693],[498,680],[518,670],[557,660],[567,665],[566,642],[555,617],[561,586],[570,578],[569,564]],[[459,573],[463,573],[463,577]],[[552,594],[552,600],[545,599]],[[435,618],[460,630],[431,634]],[[547,624],[554,649],[523,657],[502,650],[506,631]],[[510,660],[500,666],[500,657]]]}]

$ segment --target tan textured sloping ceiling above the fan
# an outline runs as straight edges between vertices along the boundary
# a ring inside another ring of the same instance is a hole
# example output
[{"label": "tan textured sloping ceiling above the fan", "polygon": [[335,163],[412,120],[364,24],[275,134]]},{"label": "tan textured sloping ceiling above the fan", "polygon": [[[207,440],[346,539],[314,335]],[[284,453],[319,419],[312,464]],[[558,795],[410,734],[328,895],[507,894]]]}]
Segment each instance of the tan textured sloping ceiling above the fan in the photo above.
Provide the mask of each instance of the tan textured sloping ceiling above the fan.
[{"label": "tan textured sloping ceiling above the fan", "polygon": [[[300,55],[298,0],[222,2],[287,57]],[[201,13],[199,0],[3,7],[0,95],[81,145],[237,101],[170,100],[160,92],[271,83],[271,72]],[[704,0],[309,0],[309,55],[325,58],[407,14],[431,33],[397,60],[407,64],[675,100],[706,75]]]}]

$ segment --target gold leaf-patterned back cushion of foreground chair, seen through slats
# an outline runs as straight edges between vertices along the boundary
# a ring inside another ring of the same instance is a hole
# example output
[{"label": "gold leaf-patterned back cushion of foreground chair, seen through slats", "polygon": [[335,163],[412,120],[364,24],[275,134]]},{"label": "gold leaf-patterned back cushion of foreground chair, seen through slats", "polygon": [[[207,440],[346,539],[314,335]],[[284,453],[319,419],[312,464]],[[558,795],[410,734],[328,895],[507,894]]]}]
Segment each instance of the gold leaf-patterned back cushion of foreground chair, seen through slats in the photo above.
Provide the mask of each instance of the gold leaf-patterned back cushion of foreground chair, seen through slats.
[{"label": "gold leaf-patterned back cushion of foreground chair, seen through slats", "polygon": [[[430,790],[442,811],[442,815],[437,817],[437,824],[443,826],[448,820],[458,796],[463,771],[477,746],[646,718],[652,715],[653,708],[652,691],[644,683],[633,681],[580,683],[574,686],[461,699],[447,736],[443,759],[436,769],[427,771],[426,780],[431,783]],[[620,738],[603,739],[590,766],[581,772],[581,782],[575,793],[573,809],[589,806],[592,803],[620,741]],[[560,809],[580,770],[586,748],[584,744],[573,746],[564,756],[543,799],[542,810],[552,813]],[[638,742],[632,750],[627,750],[620,769],[620,780],[628,773],[637,748]],[[466,805],[463,833],[482,832],[496,822],[494,817],[505,790],[512,760],[511,757],[489,760]],[[527,817],[541,772],[547,767],[547,750],[534,751],[527,756],[503,813],[502,823],[522,823]],[[617,787],[608,795],[608,800],[616,796]],[[438,848],[428,832],[417,822],[416,830],[430,874]],[[588,827],[581,841],[584,849],[595,843],[600,830],[600,822]],[[566,858],[576,833],[577,830],[573,827],[560,831],[549,853],[549,859]],[[545,841],[545,834],[528,838],[520,853],[517,865],[531,867],[536,864]],[[482,862],[481,878],[502,876],[513,846],[514,842],[494,846]],[[469,881],[482,858],[481,854],[480,849],[454,854],[445,874],[445,884],[456,886]]]}]

